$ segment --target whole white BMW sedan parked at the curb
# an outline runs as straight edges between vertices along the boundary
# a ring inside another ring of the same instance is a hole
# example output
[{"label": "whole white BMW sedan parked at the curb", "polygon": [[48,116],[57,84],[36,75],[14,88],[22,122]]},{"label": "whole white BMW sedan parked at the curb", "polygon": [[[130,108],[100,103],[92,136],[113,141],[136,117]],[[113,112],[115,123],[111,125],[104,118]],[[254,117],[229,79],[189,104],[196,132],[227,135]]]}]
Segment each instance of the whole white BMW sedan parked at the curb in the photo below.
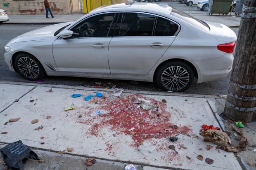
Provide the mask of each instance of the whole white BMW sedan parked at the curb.
[{"label": "whole white BMW sedan parked at the curb", "polygon": [[123,3],[92,10],[72,23],[20,35],[5,46],[9,70],[29,80],[45,75],[156,82],[182,92],[225,78],[237,37],[166,3]]}]

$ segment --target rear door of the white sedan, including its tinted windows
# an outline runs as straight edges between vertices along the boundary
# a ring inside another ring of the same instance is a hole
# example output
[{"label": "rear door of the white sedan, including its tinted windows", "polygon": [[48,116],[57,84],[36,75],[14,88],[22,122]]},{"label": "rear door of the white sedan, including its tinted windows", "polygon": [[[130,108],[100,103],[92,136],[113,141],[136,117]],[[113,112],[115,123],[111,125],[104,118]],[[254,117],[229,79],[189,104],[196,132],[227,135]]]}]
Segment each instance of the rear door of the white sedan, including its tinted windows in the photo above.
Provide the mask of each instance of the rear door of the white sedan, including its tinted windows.
[{"label": "rear door of the white sedan, including its tinted windows", "polygon": [[175,39],[178,25],[136,12],[119,14],[109,44],[111,75],[146,75]]}]

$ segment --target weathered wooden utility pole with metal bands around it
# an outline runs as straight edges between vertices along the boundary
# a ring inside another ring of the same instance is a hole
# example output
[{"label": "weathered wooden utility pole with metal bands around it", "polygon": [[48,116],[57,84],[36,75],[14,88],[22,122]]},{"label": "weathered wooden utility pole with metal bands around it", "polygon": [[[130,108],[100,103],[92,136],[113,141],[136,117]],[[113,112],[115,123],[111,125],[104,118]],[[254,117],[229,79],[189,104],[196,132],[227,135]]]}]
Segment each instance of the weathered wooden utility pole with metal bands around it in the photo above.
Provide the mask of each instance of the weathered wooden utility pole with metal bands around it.
[{"label": "weathered wooden utility pole with metal bands around it", "polygon": [[256,0],[245,0],[224,114],[256,121]]}]

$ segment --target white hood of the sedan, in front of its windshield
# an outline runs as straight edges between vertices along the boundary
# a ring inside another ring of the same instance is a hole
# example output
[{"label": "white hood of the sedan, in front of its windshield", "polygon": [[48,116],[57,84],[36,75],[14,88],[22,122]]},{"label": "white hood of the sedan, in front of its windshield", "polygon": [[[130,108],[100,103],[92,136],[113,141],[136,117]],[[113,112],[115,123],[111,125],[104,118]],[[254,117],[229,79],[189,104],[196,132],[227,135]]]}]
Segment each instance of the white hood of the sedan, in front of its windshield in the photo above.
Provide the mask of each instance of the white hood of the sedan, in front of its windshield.
[{"label": "white hood of the sedan, in front of its windshield", "polygon": [[67,26],[73,22],[66,23],[58,23],[52,26],[47,26],[43,28],[39,28],[37,30],[29,31],[28,33],[24,33],[19,35],[18,37],[12,39],[7,44],[15,43],[15,42],[24,42],[24,41],[36,41],[36,40],[46,40],[50,36],[59,30],[60,28]]}]

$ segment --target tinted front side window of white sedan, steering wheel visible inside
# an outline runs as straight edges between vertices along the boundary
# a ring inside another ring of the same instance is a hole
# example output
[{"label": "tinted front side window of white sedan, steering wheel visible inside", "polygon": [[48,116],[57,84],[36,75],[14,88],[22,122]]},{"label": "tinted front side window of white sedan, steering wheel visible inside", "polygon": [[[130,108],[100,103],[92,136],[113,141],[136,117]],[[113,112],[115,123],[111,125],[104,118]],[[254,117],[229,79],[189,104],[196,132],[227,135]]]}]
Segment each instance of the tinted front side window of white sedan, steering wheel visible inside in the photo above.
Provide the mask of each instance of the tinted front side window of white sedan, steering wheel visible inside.
[{"label": "tinted front side window of white sedan, steering wheel visible inside", "polygon": [[100,14],[85,19],[71,30],[78,37],[107,37],[116,13]]}]

